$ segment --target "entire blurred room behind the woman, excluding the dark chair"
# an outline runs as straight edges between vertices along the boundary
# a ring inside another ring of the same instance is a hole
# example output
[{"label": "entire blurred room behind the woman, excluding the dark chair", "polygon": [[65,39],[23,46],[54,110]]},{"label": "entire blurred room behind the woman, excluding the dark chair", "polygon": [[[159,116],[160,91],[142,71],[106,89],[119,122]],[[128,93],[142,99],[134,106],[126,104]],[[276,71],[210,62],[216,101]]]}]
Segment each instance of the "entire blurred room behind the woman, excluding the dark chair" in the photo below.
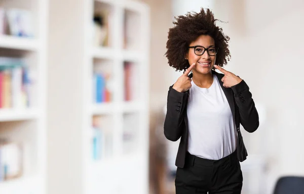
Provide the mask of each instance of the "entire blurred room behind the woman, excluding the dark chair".
[{"label": "entire blurred room behind the woman, excluding the dark chair", "polygon": [[164,54],[174,16],[201,7],[260,116],[242,193],[304,176],[303,1],[0,0],[0,193],[175,193]]}]

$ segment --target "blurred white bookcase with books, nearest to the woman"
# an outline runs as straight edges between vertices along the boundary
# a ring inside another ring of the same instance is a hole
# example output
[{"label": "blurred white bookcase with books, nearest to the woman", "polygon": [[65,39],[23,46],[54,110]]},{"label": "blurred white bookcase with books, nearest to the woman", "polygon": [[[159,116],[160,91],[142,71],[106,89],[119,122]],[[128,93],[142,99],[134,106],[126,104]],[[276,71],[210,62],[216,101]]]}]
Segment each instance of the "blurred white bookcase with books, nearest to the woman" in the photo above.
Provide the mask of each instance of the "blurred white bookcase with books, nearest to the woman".
[{"label": "blurred white bookcase with books, nearest to the woman", "polygon": [[86,3],[84,193],[148,193],[149,8]]}]

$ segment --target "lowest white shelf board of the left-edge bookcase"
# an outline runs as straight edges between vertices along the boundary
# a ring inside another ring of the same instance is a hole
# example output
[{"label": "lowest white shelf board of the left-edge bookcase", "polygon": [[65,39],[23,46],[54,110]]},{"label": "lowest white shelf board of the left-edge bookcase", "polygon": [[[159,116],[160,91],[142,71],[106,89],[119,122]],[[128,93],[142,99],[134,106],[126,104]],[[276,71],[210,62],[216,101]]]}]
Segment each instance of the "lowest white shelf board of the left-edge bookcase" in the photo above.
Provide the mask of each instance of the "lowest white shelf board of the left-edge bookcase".
[{"label": "lowest white shelf board of the left-edge bookcase", "polygon": [[0,182],[0,193],[38,194],[41,181],[37,177],[18,178]]}]

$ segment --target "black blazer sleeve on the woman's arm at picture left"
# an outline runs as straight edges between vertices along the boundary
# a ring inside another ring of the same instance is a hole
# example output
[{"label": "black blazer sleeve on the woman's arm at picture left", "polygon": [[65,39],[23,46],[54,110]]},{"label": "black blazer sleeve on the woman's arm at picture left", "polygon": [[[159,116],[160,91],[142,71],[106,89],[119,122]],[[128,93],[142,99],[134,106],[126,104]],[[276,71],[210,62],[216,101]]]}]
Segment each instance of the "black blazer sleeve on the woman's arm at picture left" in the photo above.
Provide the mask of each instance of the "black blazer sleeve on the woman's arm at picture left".
[{"label": "black blazer sleeve on the woman's arm at picture left", "polygon": [[[173,85],[172,85],[173,86]],[[164,134],[167,139],[177,141],[184,125],[183,112],[188,92],[179,92],[169,87],[167,98],[167,113],[164,123]]]}]

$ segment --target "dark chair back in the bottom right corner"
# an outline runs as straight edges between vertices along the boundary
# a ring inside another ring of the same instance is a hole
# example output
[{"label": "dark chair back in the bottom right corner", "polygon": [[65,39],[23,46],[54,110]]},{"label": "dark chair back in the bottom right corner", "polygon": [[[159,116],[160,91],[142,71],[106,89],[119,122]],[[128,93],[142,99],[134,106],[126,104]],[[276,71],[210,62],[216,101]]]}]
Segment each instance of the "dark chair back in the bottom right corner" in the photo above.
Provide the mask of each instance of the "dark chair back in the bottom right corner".
[{"label": "dark chair back in the bottom right corner", "polygon": [[274,194],[304,194],[304,177],[284,176],[279,178]]}]

